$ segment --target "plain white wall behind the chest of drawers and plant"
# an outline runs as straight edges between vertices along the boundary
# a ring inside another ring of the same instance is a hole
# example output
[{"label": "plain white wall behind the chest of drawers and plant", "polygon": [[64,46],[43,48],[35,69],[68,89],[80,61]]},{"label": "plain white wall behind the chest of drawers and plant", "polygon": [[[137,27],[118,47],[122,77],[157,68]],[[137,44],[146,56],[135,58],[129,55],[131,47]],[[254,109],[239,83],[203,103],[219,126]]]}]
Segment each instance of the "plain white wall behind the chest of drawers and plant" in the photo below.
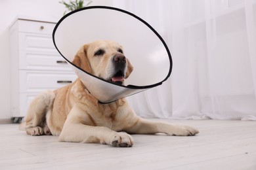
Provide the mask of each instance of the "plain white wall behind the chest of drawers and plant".
[{"label": "plain white wall behind the chest of drawers and plant", "polygon": [[[1,0],[0,1],[0,119],[11,118],[9,26],[18,15],[36,18],[62,17],[64,5],[60,0]],[[66,0],[68,2],[68,0]],[[111,6],[112,0],[93,0],[91,5]]]}]

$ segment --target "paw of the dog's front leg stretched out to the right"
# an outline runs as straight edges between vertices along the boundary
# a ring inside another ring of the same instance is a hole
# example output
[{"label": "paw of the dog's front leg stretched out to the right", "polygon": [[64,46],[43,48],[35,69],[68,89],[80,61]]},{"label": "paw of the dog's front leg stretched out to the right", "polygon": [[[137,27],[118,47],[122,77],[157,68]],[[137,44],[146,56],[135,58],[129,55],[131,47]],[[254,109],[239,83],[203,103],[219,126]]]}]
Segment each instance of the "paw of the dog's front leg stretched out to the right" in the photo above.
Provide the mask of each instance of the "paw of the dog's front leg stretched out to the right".
[{"label": "paw of the dog's front leg stretched out to the right", "polygon": [[198,134],[198,129],[194,129],[194,127],[183,126],[183,125],[173,125],[171,131],[169,131],[168,135],[174,136],[194,136]]}]

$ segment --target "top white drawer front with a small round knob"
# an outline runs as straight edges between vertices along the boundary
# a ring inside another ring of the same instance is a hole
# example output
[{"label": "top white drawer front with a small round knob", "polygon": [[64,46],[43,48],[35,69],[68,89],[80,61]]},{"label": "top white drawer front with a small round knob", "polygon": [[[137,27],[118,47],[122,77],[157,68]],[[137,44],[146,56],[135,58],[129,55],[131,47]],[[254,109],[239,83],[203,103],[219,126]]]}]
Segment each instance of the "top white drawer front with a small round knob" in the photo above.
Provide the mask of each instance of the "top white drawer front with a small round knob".
[{"label": "top white drawer front with a small round knob", "polygon": [[18,31],[24,33],[39,33],[52,35],[55,25],[56,24],[47,22],[18,20]]}]

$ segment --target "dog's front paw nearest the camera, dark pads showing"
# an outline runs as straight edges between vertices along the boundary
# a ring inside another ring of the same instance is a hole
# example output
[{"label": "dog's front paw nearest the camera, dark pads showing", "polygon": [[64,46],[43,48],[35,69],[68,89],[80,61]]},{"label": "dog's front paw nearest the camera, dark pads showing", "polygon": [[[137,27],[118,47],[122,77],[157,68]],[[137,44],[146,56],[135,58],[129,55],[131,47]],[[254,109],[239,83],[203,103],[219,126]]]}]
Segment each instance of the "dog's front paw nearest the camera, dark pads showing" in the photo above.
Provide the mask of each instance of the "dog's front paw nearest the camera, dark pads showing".
[{"label": "dog's front paw nearest the camera, dark pads showing", "polygon": [[133,146],[133,137],[125,132],[118,132],[112,137],[111,144],[116,147],[131,147]]}]

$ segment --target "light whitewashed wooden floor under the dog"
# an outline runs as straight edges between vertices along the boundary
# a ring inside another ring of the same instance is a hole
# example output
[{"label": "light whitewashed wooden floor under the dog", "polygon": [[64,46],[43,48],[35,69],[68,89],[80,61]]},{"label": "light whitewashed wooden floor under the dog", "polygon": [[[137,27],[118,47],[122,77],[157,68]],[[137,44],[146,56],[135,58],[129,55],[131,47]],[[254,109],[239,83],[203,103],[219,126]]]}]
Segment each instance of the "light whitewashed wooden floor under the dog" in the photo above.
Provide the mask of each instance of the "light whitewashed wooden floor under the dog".
[{"label": "light whitewashed wooden floor under the dog", "polygon": [[194,137],[133,135],[131,148],[59,143],[0,125],[0,169],[256,169],[256,122],[163,120],[198,127]]}]

